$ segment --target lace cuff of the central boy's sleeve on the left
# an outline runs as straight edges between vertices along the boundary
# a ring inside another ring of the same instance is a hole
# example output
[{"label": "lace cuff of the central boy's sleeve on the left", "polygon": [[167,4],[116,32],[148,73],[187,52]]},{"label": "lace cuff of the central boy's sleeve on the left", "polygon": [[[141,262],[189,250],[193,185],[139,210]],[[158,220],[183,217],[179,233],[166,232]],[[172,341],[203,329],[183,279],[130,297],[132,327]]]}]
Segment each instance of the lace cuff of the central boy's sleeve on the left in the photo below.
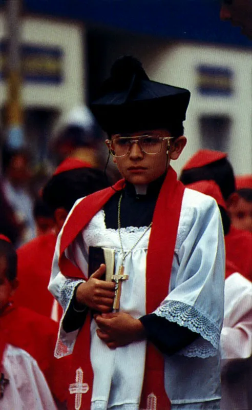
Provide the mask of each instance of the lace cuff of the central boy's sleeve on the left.
[{"label": "lace cuff of the central boy's sleeve on the left", "polygon": [[67,279],[60,289],[59,303],[64,309],[64,315],[62,315],[59,322],[58,338],[55,346],[54,356],[59,359],[60,357],[71,355],[73,352],[78,329],[74,332],[65,332],[62,326],[64,316],[69,308],[69,304],[72,300],[74,289],[78,283],[85,282],[85,280],[73,280]]}]

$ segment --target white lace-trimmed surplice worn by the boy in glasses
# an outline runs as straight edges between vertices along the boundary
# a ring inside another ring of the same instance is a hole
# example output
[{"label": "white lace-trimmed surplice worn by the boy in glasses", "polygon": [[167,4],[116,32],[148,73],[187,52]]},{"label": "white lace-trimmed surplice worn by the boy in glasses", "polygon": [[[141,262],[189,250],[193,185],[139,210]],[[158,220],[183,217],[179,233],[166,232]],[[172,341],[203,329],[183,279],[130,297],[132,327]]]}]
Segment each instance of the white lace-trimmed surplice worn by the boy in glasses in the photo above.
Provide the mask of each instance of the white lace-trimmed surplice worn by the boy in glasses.
[{"label": "white lace-trimmed surplice worn by the boy in glasses", "polygon": [[[121,229],[125,252],[132,248],[145,229],[146,227]],[[57,240],[49,290],[66,311],[80,280],[66,279],[59,272],[60,237],[61,234]],[[149,237],[150,230],[125,258],[125,273],[129,275],[129,279],[122,283],[120,309],[135,318],[146,314],[145,271]],[[115,267],[118,269],[122,260],[118,230],[107,229],[103,210],[92,218],[66,251],[66,256],[82,272],[88,271],[90,246],[115,249]],[[154,312],[157,316],[200,334],[183,351],[171,357],[165,356],[165,389],[174,410],[219,409],[219,339],[223,321],[224,267],[224,240],[218,206],[213,198],[185,189],[169,295]],[[144,374],[146,342],[131,343],[110,350],[97,337],[96,329],[97,325],[93,320],[92,410],[137,410]],[[56,356],[62,355],[62,344],[68,354],[73,351],[77,333],[78,331],[74,331],[66,334],[61,320]],[[84,369],[83,371],[85,373]]]}]

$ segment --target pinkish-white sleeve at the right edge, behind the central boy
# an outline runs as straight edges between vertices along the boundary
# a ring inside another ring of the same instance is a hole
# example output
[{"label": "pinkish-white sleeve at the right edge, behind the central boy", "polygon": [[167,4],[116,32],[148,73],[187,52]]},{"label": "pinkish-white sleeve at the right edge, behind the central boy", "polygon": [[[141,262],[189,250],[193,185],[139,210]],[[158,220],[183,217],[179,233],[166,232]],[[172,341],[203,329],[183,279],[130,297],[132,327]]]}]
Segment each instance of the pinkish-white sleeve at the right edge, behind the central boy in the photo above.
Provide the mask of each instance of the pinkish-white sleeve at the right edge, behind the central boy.
[{"label": "pinkish-white sleeve at the right edge, behind the central boy", "polygon": [[225,280],[221,358],[245,359],[252,352],[252,283],[239,273]]}]

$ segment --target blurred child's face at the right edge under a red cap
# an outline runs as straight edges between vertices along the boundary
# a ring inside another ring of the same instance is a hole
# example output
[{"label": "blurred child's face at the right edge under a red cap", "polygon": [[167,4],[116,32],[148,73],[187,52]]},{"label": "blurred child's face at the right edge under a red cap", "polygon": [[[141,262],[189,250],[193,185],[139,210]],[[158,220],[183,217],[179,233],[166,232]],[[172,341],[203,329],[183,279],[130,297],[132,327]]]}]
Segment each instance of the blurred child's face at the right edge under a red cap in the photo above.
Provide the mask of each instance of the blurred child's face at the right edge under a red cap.
[{"label": "blurred child's face at the right edge under a red cap", "polygon": [[252,232],[252,202],[239,196],[228,206],[228,214],[235,228]]}]

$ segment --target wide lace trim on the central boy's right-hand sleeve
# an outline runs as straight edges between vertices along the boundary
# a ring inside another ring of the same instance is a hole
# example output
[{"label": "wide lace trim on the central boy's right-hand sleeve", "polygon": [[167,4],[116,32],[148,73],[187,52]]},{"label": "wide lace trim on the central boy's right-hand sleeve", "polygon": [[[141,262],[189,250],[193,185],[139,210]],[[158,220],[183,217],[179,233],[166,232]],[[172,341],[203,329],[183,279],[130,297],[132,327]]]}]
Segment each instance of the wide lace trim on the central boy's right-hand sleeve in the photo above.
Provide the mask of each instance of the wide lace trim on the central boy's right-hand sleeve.
[{"label": "wide lace trim on the central boy's right-hand sleeve", "polygon": [[200,334],[201,338],[184,347],[178,353],[179,355],[201,358],[217,355],[220,330],[210,318],[199,312],[194,306],[177,300],[166,300],[154,313]]}]

